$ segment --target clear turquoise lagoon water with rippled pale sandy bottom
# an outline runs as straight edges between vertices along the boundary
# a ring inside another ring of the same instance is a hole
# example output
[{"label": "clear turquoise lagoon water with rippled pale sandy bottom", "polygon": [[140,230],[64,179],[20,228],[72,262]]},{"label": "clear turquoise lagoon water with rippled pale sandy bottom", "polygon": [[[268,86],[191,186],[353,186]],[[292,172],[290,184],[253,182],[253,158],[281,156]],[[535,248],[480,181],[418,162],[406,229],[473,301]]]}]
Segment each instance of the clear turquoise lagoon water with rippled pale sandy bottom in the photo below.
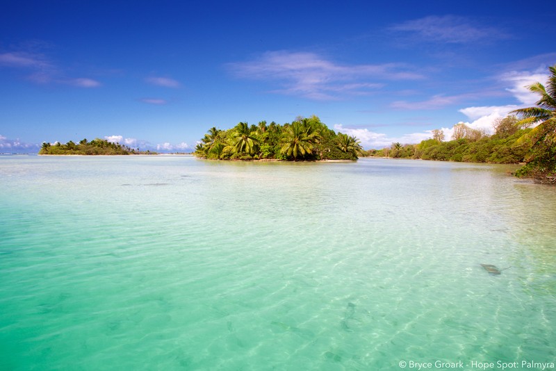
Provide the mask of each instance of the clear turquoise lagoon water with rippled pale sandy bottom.
[{"label": "clear turquoise lagoon water with rippled pale sandy bottom", "polygon": [[555,362],[556,189],[510,170],[1,156],[0,369]]}]

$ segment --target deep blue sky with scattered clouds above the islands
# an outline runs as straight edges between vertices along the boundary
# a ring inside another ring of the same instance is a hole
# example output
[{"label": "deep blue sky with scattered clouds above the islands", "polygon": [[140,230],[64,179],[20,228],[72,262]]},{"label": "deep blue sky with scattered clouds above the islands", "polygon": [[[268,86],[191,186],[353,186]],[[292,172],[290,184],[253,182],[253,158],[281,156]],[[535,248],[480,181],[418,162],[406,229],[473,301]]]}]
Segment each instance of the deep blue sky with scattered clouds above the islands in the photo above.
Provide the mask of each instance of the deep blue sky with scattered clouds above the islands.
[{"label": "deep blue sky with scattered clouds above the islands", "polygon": [[556,12],[525,1],[3,1],[0,152],[318,115],[365,148],[536,101]]}]

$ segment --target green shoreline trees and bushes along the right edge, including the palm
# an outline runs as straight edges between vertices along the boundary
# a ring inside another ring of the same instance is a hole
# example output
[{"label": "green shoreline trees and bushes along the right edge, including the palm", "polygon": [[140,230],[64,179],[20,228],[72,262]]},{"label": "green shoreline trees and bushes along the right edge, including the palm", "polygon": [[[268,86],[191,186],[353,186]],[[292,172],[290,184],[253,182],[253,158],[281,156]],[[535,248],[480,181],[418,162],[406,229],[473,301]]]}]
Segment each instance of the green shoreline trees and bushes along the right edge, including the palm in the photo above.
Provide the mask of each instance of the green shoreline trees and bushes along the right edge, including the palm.
[{"label": "green shoreline trees and bushes along the right edge, including the palm", "polygon": [[[539,94],[536,107],[512,111],[521,117],[508,116],[494,124],[495,133],[471,129],[465,124],[454,126],[452,140],[445,142],[440,129],[432,138],[418,145],[393,143],[384,149],[370,149],[365,156],[420,158],[473,163],[523,163],[516,176],[533,178],[541,183],[556,183],[556,65],[549,67],[546,88],[534,83],[528,88]],[[530,126],[534,128],[530,128]]]}]

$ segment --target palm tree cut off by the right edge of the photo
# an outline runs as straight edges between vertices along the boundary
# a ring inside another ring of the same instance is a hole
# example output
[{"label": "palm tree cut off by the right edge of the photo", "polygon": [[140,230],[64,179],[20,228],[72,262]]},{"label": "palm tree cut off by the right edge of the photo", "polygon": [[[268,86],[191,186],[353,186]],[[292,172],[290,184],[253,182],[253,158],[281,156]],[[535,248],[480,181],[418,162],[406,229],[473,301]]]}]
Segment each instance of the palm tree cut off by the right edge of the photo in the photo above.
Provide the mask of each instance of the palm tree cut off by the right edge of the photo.
[{"label": "palm tree cut off by the right edge of the photo", "polygon": [[520,170],[522,175],[537,173],[546,177],[556,173],[556,65],[548,69],[551,74],[546,88],[539,82],[528,86],[529,90],[541,97],[537,101],[537,106],[511,112],[521,116],[518,122],[521,126],[537,124],[516,141],[516,144],[526,141],[532,144],[528,164],[523,171]]}]

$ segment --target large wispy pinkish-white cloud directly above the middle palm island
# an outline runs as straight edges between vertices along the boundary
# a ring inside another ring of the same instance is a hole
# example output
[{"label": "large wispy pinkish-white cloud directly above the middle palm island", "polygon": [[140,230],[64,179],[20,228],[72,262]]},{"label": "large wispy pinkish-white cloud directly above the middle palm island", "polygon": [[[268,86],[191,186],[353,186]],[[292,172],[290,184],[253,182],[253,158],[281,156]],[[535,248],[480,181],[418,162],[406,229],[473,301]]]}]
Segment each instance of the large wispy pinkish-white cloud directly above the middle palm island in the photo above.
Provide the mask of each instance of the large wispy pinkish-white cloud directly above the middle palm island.
[{"label": "large wispy pinkish-white cloud directly above the middle palm island", "polygon": [[309,99],[341,99],[345,95],[369,94],[385,80],[423,79],[404,65],[338,65],[316,53],[268,51],[256,60],[229,63],[229,70],[243,79],[277,81],[279,94]]}]

